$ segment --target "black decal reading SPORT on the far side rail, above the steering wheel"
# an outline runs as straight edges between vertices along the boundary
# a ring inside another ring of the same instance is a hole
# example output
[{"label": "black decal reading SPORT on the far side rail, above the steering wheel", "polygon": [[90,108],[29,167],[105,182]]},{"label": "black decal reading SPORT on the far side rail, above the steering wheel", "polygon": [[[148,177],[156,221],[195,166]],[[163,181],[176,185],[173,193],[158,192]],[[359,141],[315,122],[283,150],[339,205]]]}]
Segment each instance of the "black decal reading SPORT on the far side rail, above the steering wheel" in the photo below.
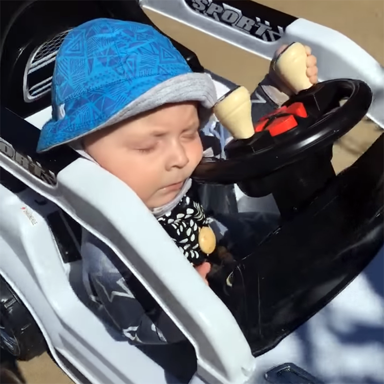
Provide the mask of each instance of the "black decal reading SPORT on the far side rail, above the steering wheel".
[{"label": "black decal reading SPORT on the far side rail, above the steering wheel", "polygon": [[[255,14],[257,7],[262,7],[257,3],[253,3],[253,8],[245,10],[241,7],[241,2],[220,2],[217,0],[185,0],[188,6],[194,11],[212,18],[219,23],[228,25],[232,28],[250,34],[264,41],[279,40],[285,32],[286,25],[272,25],[270,20],[259,17]],[[229,4],[235,3],[235,4]],[[252,2],[251,2],[252,3]],[[264,7],[268,9],[267,7]],[[276,11],[280,14],[280,12]],[[293,21],[293,16],[286,15]],[[288,23],[289,24],[289,23]]]}]

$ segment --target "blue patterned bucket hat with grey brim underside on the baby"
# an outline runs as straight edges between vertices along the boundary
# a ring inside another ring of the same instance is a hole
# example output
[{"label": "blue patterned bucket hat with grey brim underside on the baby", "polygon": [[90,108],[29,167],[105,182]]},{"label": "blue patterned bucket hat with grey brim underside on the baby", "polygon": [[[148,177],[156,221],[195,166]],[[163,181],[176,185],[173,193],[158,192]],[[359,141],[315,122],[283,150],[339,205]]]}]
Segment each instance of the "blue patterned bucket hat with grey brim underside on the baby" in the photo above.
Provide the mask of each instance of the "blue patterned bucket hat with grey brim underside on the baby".
[{"label": "blue patterned bucket hat with grey brim underside on the baby", "polygon": [[64,39],[52,79],[52,118],[37,152],[73,143],[103,127],[172,102],[217,99],[210,76],[191,71],[153,27],[100,18]]}]

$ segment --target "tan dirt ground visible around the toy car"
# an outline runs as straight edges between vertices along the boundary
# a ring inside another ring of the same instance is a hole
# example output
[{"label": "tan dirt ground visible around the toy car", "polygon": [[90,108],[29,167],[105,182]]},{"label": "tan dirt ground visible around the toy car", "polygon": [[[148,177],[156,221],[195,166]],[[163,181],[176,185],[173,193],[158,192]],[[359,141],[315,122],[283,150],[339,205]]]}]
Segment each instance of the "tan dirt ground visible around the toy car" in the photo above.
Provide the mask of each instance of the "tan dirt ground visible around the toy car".
[{"label": "tan dirt ground visible around the toy car", "polygon": [[[160,0],[159,0],[160,1]],[[321,2],[291,0],[260,0],[259,3],[294,16],[338,30],[368,51],[384,64],[384,2],[382,0],[323,0]],[[348,16],[347,16],[348,12]],[[150,14],[154,22],[166,33],[194,50],[204,67],[254,89],[266,73],[268,62],[257,56],[229,47],[224,42],[203,35],[162,16]],[[212,52],[215,52],[212,54]],[[379,136],[380,131],[370,122],[360,122],[334,146],[334,167],[340,170],[364,153]],[[48,355],[20,364],[27,384],[70,384]]]}]

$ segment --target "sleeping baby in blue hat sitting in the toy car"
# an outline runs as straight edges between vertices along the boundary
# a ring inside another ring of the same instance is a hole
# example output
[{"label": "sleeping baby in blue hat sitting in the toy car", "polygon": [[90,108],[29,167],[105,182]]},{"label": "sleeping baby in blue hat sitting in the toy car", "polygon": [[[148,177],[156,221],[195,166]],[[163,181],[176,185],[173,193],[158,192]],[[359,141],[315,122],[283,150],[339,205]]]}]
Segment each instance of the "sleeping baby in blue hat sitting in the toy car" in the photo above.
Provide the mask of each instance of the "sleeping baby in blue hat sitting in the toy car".
[{"label": "sleeping baby in blue hat sitting in the toy car", "polygon": [[[307,55],[307,76],[315,83],[316,59],[309,48]],[[169,218],[180,207],[196,228],[209,228],[190,176],[204,153],[220,156],[222,151],[220,124],[210,119],[217,101],[212,78],[234,87],[214,74],[192,72],[170,41],[150,26],[115,19],[87,22],[68,34],[57,54],[52,119],[41,130],[37,151],[70,144],[132,188],[168,233],[175,229],[167,226],[174,221]],[[252,94],[266,100],[253,103],[253,120],[281,105],[289,93],[272,62]],[[206,280],[210,264],[200,257],[203,245],[193,229],[190,244],[178,245]],[[84,284],[99,314],[106,314],[131,342],[183,339],[111,249],[86,231],[82,257]]]}]

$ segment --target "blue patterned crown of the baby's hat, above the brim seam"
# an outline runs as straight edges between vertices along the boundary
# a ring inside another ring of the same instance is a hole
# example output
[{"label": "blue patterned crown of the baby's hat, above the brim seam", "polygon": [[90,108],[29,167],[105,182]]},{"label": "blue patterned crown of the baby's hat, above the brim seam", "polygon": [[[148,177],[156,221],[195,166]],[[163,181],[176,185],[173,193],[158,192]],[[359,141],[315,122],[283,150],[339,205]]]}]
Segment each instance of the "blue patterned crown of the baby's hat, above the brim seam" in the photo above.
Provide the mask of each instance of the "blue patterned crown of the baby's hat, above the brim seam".
[{"label": "blue patterned crown of the baby's hat, above the brim seam", "polygon": [[68,33],[56,57],[52,104],[120,81],[131,82],[190,69],[169,39],[155,28],[100,18]]}]

